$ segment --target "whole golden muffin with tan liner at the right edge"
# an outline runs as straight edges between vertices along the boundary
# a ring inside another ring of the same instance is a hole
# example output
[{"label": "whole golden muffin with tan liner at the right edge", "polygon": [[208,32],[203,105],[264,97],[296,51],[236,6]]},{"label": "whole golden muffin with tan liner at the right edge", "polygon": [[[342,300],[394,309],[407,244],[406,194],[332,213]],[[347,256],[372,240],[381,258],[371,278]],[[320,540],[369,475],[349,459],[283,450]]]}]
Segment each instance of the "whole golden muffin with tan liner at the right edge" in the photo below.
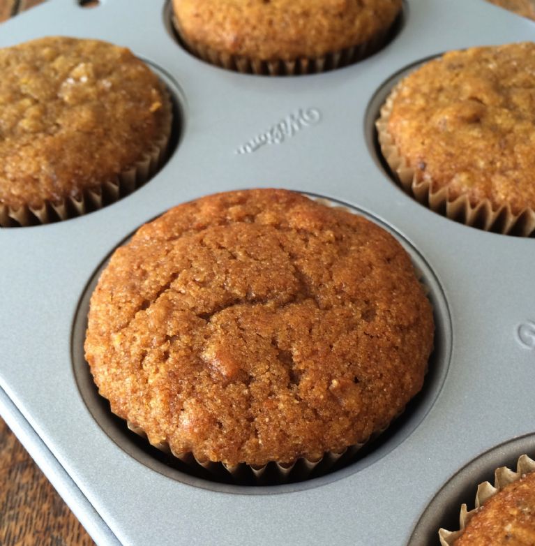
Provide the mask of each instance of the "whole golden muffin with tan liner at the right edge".
[{"label": "whole golden muffin with tan liner at the right edge", "polygon": [[431,209],[499,233],[535,231],[535,44],[472,47],[393,89],[377,121],[398,182]]}]

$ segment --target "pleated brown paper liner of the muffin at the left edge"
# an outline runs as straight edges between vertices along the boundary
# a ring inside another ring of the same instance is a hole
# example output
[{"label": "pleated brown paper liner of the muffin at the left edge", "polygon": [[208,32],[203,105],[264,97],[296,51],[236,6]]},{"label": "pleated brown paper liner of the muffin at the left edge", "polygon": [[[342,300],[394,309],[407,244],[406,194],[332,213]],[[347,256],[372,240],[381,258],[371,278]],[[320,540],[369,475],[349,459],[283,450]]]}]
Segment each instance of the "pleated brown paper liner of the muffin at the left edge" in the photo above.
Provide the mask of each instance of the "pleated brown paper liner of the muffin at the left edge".
[{"label": "pleated brown paper liner of the muffin at the left edge", "polygon": [[78,198],[69,196],[59,202],[46,201],[39,208],[23,205],[15,209],[0,203],[0,227],[35,226],[82,216],[111,205],[147,182],[165,161],[172,132],[171,97],[163,84],[161,87],[164,113],[162,133],[128,170],[96,188],[84,189]]}]

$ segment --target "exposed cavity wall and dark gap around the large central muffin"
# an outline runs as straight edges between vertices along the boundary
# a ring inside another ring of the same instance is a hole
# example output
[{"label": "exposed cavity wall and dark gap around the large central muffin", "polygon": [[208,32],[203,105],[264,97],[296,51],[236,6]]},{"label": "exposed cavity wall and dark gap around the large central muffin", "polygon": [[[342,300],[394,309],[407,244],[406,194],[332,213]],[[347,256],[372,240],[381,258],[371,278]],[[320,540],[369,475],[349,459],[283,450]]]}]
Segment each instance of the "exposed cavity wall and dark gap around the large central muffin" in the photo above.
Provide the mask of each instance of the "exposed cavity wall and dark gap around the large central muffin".
[{"label": "exposed cavity wall and dark gap around the large central muffin", "polygon": [[[73,371],[80,394],[89,408],[91,415],[105,433],[138,462],[153,470],[180,482],[196,485],[206,489],[241,492],[251,494],[266,494],[276,491],[294,491],[318,487],[336,481],[346,475],[366,468],[393,450],[404,441],[432,407],[446,377],[451,357],[451,316],[444,297],[442,287],[429,265],[412,244],[396,230],[384,222],[355,207],[336,200],[329,200],[319,195],[309,195],[324,204],[344,207],[355,214],[361,214],[367,219],[379,224],[391,233],[402,244],[412,258],[417,276],[432,303],[435,318],[434,350],[430,357],[428,373],[423,389],[409,402],[405,411],[394,420],[390,427],[376,438],[370,440],[363,448],[354,452],[348,450],[340,459],[324,457],[322,462],[310,470],[306,461],[300,459],[288,472],[280,471],[275,464],[270,463],[265,470],[255,472],[250,467],[240,468],[236,473],[229,473],[221,464],[209,464],[203,468],[195,464],[181,462],[170,454],[158,450],[128,429],[126,422],[116,417],[110,411],[110,404],[100,397],[93,383],[89,365],[84,359],[84,339],[87,327],[89,300],[96,286],[100,273],[103,271],[110,256],[91,276],[80,299],[73,321],[71,354]],[[128,237],[129,238],[129,237]],[[128,238],[126,240],[128,240]],[[120,245],[119,245],[120,246]],[[285,485],[282,485],[285,484]]]}]

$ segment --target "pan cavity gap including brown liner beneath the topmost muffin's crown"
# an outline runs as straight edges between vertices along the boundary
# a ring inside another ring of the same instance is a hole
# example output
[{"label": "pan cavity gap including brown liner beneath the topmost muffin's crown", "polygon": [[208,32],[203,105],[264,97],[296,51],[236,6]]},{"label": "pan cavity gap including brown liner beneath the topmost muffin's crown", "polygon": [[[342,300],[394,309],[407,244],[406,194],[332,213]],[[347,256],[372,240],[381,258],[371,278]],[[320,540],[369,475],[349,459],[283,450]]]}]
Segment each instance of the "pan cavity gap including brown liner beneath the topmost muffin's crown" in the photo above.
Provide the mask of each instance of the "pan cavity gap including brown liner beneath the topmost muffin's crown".
[{"label": "pan cavity gap including brown liner beneath the topmost muffin's crown", "polygon": [[176,24],[174,22],[173,8],[171,1],[165,3],[164,8],[164,21],[165,27],[169,36],[171,36],[175,42],[192,54],[193,57],[204,61],[213,66],[219,68],[225,68],[229,71],[239,72],[250,75],[264,75],[264,76],[296,76],[307,74],[319,74],[338,70],[359,61],[363,61],[368,57],[376,54],[384,47],[389,45],[400,34],[405,26],[406,18],[408,14],[407,1],[402,1],[402,7],[400,13],[395,17],[391,27],[387,29],[386,33],[379,38],[370,40],[360,47],[351,47],[341,52],[332,54],[326,54],[317,59],[296,59],[293,62],[283,61],[258,61],[252,62],[249,59],[243,57],[222,57],[212,50],[199,49],[194,51],[192,47],[186,45],[184,40],[176,30]]}]

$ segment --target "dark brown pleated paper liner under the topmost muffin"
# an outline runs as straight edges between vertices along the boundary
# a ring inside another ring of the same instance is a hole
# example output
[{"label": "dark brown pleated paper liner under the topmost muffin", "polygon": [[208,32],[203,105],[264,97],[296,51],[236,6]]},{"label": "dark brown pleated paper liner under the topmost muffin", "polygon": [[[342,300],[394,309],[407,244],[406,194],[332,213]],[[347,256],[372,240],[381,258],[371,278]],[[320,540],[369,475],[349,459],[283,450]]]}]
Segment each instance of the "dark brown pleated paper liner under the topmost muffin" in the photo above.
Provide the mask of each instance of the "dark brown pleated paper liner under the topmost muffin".
[{"label": "dark brown pleated paper liner under the topmost muffin", "polygon": [[[401,12],[400,12],[401,13]],[[172,15],[173,27],[179,40],[186,49],[209,64],[226,68],[227,70],[243,74],[269,75],[269,76],[295,76],[303,74],[316,74],[342,68],[357,61],[366,59],[380,50],[388,40],[391,30],[398,24],[400,14],[390,27],[375,33],[372,38],[358,45],[346,47],[342,50],[329,52],[320,57],[300,57],[292,61],[275,59],[266,61],[240,55],[232,55],[227,52],[220,52],[197,40],[188,38],[182,31],[176,17]]]}]

